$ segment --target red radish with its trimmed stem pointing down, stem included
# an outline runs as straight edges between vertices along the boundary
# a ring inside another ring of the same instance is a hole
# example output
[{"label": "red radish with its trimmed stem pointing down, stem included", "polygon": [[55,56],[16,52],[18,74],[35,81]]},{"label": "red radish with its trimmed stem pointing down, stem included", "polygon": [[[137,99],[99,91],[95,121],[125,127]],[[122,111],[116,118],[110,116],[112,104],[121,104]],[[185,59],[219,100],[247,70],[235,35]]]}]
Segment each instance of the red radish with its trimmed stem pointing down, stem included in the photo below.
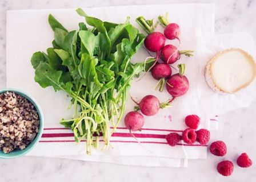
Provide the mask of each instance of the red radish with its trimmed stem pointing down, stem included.
[{"label": "red radish with its trimmed stem pointing down, stem included", "polygon": [[166,63],[156,64],[151,69],[151,75],[155,80],[159,80],[156,89],[159,89],[159,91],[162,92],[163,87],[165,86],[165,79],[171,76],[171,67]]}]

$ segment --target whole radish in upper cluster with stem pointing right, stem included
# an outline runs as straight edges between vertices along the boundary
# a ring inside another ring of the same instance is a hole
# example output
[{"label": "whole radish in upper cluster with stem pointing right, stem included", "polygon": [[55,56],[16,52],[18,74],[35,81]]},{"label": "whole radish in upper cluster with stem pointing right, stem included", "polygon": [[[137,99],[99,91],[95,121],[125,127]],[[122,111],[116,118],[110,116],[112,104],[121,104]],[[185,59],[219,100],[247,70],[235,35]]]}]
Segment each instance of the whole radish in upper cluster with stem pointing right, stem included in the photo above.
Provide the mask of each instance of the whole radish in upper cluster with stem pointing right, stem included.
[{"label": "whole radish in upper cluster with stem pointing right, stem included", "polygon": [[190,50],[178,51],[177,47],[169,44],[163,47],[161,51],[161,55],[162,55],[162,60],[165,61],[165,63],[173,64],[181,57],[181,55],[186,55],[189,57],[193,56],[190,52],[194,52],[194,51],[190,51]]}]

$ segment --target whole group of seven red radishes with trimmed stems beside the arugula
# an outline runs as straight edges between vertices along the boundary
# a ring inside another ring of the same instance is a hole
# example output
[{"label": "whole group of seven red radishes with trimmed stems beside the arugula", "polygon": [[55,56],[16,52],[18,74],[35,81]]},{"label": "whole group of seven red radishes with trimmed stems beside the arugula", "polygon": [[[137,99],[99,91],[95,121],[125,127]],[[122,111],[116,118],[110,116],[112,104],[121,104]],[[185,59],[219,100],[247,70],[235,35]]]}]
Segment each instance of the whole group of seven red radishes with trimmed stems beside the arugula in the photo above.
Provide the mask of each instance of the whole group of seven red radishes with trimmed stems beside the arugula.
[{"label": "whole group of seven red radishes with trimmed stems beside the arugula", "polygon": [[[159,22],[165,30],[163,34],[161,32],[154,31],[157,24],[153,23],[153,20],[146,20],[143,16],[139,16],[136,22],[147,32],[147,36],[144,40],[145,47],[148,51],[155,52],[155,62],[149,69],[151,75],[159,80],[157,89],[161,92],[166,84],[167,92],[172,96],[171,100],[166,102],[159,102],[158,98],[152,95],[147,95],[142,98],[140,102],[134,101],[136,111],[130,111],[125,117],[125,126],[130,131],[130,134],[137,140],[137,138],[131,133],[131,131],[141,130],[145,119],[143,115],[152,116],[158,113],[159,109],[169,107],[170,103],[179,96],[182,96],[189,89],[189,80],[184,75],[185,64],[179,64],[179,73],[172,75],[172,69],[170,64],[175,63],[181,58],[181,55],[193,56],[190,50],[179,51],[178,48],[172,44],[165,45],[166,39],[177,39],[179,44],[181,40],[179,35],[181,33],[180,27],[176,23],[168,23],[163,16],[158,17]],[[179,46],[178,46],[179,47]],[[161,61],[162,60],[162,61]],[[141,110],[141,113],[138,112]],[[138,143],[140,143],[137,140]]]}]

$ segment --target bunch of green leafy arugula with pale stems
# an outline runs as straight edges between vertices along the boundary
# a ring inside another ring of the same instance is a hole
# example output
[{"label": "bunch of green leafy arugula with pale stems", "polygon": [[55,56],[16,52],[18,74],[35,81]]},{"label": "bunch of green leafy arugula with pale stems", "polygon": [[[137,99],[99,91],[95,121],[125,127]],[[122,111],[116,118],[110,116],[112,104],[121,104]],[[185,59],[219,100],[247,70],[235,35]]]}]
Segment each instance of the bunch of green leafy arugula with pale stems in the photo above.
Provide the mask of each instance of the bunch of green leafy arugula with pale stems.
[{"label": "bunch of green leafy arugula with pale stems", "polygon": [[129,17],[117,24],[88,16],[82,9],[77,13],[85,17],[86,23],[79,23],[79,30],[73,31],[49,15],[53,47],[46,53],[35,52],[31,64],[34,79],[42,88],[52,86],[71,97],[74,116],[62,119],[61,124],[73,130],[77,142],[86,139],[90,154],[91,145],[98,147],[101,135],[103,148],[109,146],[110,125],[115,130],[123,117],[133,77],[148,69],[154,60],[130,63],[145,36],[130,24]]}]

